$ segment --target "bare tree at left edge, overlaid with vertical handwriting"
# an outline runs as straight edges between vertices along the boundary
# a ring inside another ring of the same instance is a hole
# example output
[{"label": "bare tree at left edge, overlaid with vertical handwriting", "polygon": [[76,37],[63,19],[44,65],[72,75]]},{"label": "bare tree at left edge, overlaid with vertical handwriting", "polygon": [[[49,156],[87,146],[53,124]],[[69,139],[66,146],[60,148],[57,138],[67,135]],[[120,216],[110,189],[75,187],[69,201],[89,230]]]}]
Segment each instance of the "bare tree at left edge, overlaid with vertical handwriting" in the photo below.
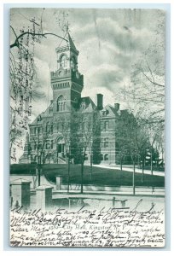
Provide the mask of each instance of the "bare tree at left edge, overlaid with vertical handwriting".
[{"label": "bare tree at left edge, overlaid with vertical handwriting", "polygon": [[[27,25],[21,29],[13,26],[13,17],[10,24],[10,154],[15,160],[16,145],[22,144],[22,137],[28,131],[28,123],[32,116],[32,100],[43,96],[38,91],[36,66],[34,63],[35,45],[49,36],[67,41],[64,37],[43,31],[44,9],[38,19],[27,20]],[[21,15],[21,14],[19,14]],[[65,20],[61,16],[61,19]],[[63,22],[64,31],[67,30],[67,21]],[[65,28],[66,27],[66,28]],[[62,30],[62,27],[61,27]],[[12,155],[13,154],[13,155]]]}]

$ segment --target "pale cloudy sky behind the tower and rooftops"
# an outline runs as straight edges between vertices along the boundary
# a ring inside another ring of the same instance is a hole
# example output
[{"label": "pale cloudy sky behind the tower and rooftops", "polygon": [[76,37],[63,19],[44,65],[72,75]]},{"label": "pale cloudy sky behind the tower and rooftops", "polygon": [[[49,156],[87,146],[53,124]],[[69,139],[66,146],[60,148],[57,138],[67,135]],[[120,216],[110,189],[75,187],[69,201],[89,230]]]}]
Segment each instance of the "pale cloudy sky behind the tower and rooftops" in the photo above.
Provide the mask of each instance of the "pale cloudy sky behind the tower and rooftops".
[{"label": "pale cloudy sky behind the tower and rooftops", "polygon": [[[61,27],[68,22],[69,31],[79,50],[78,71],[84,74],[82,96],[96,102],[102,93],[104,105],[120,102],[119,89],[131,84],[131,66],[154,44],[159,20],[164,15],[158,9],[11,9],[11,25],[16,34],[31,26],[42,16],[44,32],[64,36]],[[161,32],[163,37],[163,32]],[[14,40],[11,32],[11,42]],[[43,112],[52,99],[49,71],[56,70],[55,48],[60,38],[49,36],[35,45],[38,90],[44,97],[32,102],[32,119]]]}]

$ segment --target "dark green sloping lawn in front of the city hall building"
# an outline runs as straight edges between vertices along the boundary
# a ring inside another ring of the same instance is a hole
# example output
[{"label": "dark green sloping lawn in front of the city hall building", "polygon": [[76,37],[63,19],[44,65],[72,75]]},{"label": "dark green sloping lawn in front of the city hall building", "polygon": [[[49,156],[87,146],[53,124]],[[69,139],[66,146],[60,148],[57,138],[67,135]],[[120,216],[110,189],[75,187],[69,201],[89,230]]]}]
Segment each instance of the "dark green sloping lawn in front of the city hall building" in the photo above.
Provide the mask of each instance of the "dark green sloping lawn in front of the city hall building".
[{"label": "dark green sloping lawn in front of the city hall building", "polygon": [[[51,182],[55,183],[55,177],[61,175],[62,183],[67,183],[67,165],[44,165],[44,176]],[[35,174],[36,165],[20,164],[10,166],[11,174]],[[132,172],[116,171],[114,169],[105,169],[93,166],[92,179],[90,180],[90,166],[84,166],[84,184],[108,185],[108,186],[131,186]],[[70,183],[81,183],[81,166],[70,166]],[[136,173],[136,186],[164,187],[165,177],[144,175],[142,183],[142,174]]]}]

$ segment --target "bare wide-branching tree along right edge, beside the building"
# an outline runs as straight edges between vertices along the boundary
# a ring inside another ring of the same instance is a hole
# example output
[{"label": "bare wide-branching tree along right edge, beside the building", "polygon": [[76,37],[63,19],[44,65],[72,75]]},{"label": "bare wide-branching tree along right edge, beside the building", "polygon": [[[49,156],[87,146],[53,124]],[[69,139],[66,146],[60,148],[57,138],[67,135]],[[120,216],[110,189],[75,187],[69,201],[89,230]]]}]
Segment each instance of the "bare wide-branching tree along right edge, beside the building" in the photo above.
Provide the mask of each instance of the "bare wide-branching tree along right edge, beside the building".
[{"label": "bare wide-branching tree along right edge, beside the building", "polygon": [[165,13],[159,10],[157,19],[154,42],[132,61],[131,83],[119,92],[141,126],[136,146],[142,163],[148,147],[145,144],[150,143],[152,174],[154,147],[158,144],[164,152],[165,129]]}]

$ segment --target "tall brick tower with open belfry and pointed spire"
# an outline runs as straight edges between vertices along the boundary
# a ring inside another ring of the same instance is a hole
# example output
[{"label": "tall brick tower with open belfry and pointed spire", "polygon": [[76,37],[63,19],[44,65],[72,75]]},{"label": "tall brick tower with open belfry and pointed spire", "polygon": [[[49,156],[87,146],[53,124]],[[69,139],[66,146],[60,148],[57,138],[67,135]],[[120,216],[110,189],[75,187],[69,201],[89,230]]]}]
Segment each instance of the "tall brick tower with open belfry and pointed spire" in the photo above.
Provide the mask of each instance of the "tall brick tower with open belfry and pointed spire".
[{"label": "tall brick tower with open belfry and pointed spire", "polygon": [[53,113],[69,113],[78,107],[84,87],[84,76],[78,73],[78,49],[69,32],[63,44],[55,49],[57,70],[50,73],[53,90]]}]

